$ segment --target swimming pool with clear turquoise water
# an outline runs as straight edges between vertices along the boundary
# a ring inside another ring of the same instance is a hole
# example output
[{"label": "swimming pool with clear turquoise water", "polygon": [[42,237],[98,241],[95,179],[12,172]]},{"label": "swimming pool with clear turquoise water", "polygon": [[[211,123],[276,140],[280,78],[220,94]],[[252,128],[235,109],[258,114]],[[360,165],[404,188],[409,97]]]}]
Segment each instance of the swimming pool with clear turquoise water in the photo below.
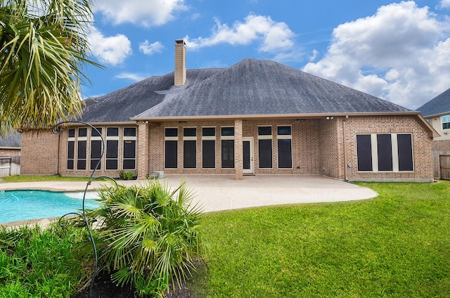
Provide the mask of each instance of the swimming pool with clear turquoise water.
[{"label": "swimming pool with clear turquoise water", "polygon": [[[79,212],[82,209],[83,194],[83,192],[59,193],[45,190],[2,190],[0,224]],[[85,209],[93,209],[100,205],[99,202],[92,200],[95,197],[95,192],[86,193]]]}]

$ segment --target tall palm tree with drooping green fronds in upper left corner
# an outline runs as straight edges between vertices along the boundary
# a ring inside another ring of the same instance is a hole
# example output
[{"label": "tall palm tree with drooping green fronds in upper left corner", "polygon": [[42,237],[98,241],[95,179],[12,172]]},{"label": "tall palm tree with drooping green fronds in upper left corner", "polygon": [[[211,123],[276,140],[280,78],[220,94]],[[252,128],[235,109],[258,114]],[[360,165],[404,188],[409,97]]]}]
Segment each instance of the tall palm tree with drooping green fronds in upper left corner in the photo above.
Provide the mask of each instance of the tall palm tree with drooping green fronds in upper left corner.
[{"label": "tall palm tree with drooping green fronds in upper left corner", "polygon": [[0,134],[80,115],[91,2],[0,2]]}]

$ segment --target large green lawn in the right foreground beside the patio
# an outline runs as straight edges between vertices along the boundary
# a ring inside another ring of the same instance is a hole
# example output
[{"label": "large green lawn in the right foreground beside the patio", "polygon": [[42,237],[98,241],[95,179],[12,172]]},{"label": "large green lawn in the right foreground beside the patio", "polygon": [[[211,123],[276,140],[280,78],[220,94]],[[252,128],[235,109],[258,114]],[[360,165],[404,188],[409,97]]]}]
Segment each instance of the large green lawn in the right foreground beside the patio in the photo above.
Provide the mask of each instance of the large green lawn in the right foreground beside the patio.
[{"label": "large green lawn in the right foreground beside the patio", "polygon": [[[450,183],[207,214],[199,297],[449,297]],[[245,198],[243,198],[245,199]]]}]

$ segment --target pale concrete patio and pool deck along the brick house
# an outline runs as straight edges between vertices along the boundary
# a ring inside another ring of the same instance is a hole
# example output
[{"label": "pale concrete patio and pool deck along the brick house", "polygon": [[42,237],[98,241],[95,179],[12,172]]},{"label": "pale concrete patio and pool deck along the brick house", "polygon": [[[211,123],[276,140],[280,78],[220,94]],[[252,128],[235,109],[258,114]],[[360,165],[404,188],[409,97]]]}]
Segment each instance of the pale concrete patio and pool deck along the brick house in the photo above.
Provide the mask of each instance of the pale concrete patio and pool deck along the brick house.
[{"label": "pale concrete patio and pool deck along the brick house", "polygon": [[[175,189],[186,181],[195,193],[193,203],[204,212],[240,209],[267,205],[343,202],[376,197],[375,191],[352,183],[315,175],[258,175],[235,180],[234,175],[167,175],[164,178]],[[95,190],[108,181],[94,181],[88,190]],[[117,181],[124,185],[146,181]],[[48,181],[0,183],[0,190],[84,191],[84,181]]]}]

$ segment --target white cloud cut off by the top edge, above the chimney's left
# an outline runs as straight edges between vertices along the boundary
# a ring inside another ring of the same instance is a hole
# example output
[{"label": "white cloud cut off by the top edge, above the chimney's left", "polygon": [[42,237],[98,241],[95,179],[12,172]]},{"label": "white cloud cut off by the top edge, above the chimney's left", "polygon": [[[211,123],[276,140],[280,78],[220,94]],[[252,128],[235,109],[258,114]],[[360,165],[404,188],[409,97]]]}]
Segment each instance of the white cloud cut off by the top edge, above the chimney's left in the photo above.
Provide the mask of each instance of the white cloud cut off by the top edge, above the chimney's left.
[{"label": "white cloud cut off by the top edge, above the chimney's left", "polygon": [[101,12],[115,24],[131,22],[144,27],[164,25],[176,11],[186,10],[184,0],[96,0],[94,12]]}]

